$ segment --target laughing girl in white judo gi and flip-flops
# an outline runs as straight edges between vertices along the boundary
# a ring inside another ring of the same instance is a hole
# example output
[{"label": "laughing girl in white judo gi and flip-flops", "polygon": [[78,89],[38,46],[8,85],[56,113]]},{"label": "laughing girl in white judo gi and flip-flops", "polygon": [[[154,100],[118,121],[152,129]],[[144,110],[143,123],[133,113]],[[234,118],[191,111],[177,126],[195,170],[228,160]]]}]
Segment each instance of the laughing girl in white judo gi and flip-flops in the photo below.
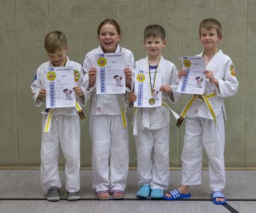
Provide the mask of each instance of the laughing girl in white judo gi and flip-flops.
[{"label": "laughing girl in white judo gi and flip-flops", "polygon": [[96,54],[124,53],[126,90],[132,89],[134,56],[119,46],[121,31],[115,20],[103,20],[97,29],[100,45],[85,55],[83,62],[86,93],[90,103],[92,141],[92,183],[97,199],[125,198],[129,170],[129,139],[126,123],[128,106],[125,94],[96,94]]}]

